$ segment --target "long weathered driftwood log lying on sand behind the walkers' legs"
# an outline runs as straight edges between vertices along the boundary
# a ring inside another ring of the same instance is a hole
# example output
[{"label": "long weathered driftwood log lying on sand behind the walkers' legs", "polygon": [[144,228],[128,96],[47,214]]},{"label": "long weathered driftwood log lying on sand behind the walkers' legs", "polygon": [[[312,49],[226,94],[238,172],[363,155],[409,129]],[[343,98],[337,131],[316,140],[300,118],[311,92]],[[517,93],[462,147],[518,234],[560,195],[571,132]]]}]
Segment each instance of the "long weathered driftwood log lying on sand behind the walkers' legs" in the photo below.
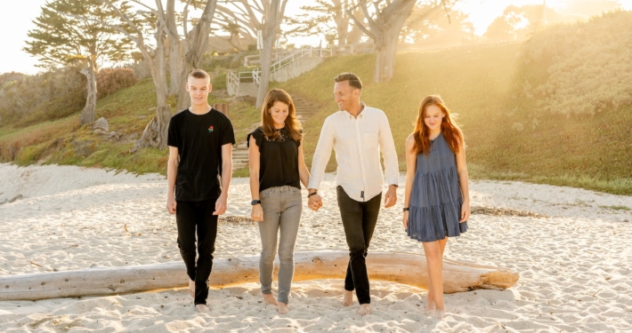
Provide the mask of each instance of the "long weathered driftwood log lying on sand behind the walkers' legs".
[{"label": "long weathered driftwood log lying on sand behind the walkers' legs", "polygon": [[[294,281],[344,279],[349,255],[340,251],[295,253]],[[279,263],[276,263],[278,268]],[[393,281],[427,289],[423,255],[372,252],[367,257],[371,280]],[[37,300],[58,297],[116,295],[188,286],[181,262],[90,268],[78,271],[21,274],[0,277],[0,300]],[[210,284],[229,287],[259,281],[259,256],[215,260]],[[506,289],[518,274],[504,268],[480,266],[450,259],[443,261],[445,293],[472,289]]]}]

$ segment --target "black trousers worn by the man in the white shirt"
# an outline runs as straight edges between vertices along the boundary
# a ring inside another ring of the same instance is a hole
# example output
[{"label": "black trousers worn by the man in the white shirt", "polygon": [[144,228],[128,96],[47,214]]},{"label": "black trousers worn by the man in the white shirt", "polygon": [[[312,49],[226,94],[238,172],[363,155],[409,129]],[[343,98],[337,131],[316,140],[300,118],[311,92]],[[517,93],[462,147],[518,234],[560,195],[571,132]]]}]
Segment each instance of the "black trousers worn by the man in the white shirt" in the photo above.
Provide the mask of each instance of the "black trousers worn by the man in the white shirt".
[{"label": "black trousers worn by the man in the white shirt", "polygon": [[371,303],[369,274],[367,274],[367,250],[377,224],[382,194],[377,194],[368,202],[356,202],[337,186],[338,207],[343,218],[344,235],[349,246],[349,265],[344,278],[344,289],[352,291],[360,304]]}]

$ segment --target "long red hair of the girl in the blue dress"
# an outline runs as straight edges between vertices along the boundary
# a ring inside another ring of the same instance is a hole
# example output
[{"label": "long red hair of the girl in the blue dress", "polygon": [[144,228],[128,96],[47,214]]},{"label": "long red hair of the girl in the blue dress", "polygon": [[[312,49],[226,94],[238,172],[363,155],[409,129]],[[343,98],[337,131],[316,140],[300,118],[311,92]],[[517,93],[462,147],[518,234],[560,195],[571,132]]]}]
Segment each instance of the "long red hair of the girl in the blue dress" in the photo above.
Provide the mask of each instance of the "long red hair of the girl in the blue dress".
[{"label": "long red hair of the girl in the blue dress", "polygon": [[430,130],[425,125],[424,119],[426,110],[432,105],[441,108],[444,115],[442,119],[443,139],[448,142],[448,146],[450,146],[454,154],[457,154],[460,147],[466,146],[463,132],[458,127],[458,123],[456,123],[450,115],[450,109],[445,106],[441,97],[436,95],[427,96],[421,102],[421,106],[419,106],[419,113],[417,114],[417,121],[415,122],[415,131],[413,131],[415,143],[413,144],[412,151],[415,152],[416,155],[424,154],[427,156],[428,153],[430,153],[430,149],[432,148],[429,137]]}]

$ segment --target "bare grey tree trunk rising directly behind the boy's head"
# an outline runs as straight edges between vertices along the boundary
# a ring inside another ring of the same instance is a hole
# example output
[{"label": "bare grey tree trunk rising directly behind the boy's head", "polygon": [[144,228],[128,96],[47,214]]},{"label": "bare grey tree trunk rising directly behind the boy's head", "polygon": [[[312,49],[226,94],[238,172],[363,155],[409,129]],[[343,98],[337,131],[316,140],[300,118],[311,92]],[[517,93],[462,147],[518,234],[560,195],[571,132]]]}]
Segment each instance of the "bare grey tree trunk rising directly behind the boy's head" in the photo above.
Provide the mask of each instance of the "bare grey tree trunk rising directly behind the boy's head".
[{"label": "bare grey tree trunk rising directly behind the boy's head", "polygon": [[198,24],[187,35],[187,52],[184,54],[180,72],[181,84],[178,88],[180,92],[176,104],[177,111],[190,107],[190,97],[184,83],[187,82],[189,73],[193,69],[199,68],[200,62],[204,59],[204,52],[207,51],[208,34],[211,31],[211,20],[215,14],[216,6],[217,0],[207,0],[207,6],[204,8]]}]

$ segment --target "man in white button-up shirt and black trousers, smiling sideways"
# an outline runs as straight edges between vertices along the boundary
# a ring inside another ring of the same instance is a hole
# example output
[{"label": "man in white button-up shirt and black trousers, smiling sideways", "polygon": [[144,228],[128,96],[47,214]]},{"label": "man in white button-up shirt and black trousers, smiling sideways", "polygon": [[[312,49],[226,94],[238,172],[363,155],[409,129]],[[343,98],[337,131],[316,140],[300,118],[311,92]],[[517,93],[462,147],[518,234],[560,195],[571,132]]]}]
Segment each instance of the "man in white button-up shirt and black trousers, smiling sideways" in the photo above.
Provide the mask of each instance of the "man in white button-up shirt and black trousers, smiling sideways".
[{"label": "man in white button-up shirt and black trousers, smiling sideways", "polygon": [[362,83],[357,75],[343,73],[334,79],[339,112],[329,115],[322,125],[312,160],[308,185],[309,206],[322,207],[318,188],[329,162],[331,149],[336,152],[336,193],[344,234],[349,246],[349,265],[344,279],[344,306],[352,305],[355,289],[360,315],[371,312],[369,276],[365,257],[377,224],[384,175],[380,151],[385,161],[385,208],[397,202],[399,170],[397,153],[388,119],[382,110],[360,101]]}]

